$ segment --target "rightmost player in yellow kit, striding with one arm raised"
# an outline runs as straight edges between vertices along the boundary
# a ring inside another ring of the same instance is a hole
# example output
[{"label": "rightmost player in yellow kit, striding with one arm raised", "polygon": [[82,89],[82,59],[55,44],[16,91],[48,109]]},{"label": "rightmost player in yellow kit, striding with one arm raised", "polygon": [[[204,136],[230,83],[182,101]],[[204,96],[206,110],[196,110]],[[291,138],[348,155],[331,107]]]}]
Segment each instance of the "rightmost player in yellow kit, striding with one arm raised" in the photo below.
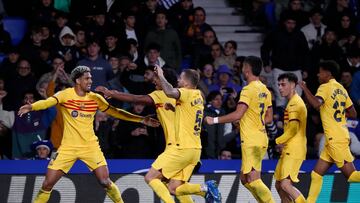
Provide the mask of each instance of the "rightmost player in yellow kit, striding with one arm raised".
[{"label": "rightmost player in yellow kit, striding with one arm raised", "polygon": [[314,96],[304,82],[299,83],[305,96],[320,117],[325,134],[325,146],[320,159],[311,172],[311,186],[307,202],[316,202],[319,196],[323,175],[335,163],[348,182],[360,182],[360,172],[353,164],[354,157],[349,148],[349,130],[346,118],[356,118],[357,113],[345,88],[335,80],[339,65],[334,61],[319,64],[318,78],[320,87]]}]

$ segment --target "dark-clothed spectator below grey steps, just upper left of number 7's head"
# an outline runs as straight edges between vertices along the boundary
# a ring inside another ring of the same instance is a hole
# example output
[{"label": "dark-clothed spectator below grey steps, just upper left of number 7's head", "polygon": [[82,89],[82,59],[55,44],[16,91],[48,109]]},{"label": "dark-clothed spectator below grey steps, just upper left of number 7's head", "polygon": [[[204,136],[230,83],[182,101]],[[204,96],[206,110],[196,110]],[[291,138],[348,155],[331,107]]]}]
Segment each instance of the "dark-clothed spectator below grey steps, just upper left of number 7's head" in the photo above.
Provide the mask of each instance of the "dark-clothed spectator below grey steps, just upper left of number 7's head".
[{"label": "dark-clothed spectator below grey steps, just upper left of number 7's head", "polygon": [[224,52],[220,57],[215,59],[214,66],[227,65],[231,70],[234,68],[236,59],[237,43],[234,40],[225,42]]}]

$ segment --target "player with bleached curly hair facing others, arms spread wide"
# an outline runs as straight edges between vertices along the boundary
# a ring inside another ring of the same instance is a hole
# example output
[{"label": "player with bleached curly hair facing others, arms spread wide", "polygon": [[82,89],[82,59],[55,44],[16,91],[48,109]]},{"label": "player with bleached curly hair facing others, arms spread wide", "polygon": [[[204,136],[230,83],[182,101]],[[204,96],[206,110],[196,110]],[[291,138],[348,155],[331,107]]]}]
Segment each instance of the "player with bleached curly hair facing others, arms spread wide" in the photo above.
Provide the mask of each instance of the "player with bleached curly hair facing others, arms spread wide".
[{"label": "player with bleached curly hair facing others, arms spread wide", "polygon": [[94,117],[97,110],[116,118],[144,123],[157,127],[159,122],[149,117],[137,116],[122,109],[117,109],[99,94],[90,91],[92,85],[91,70],[87,66],[78,66],[71,72],[75,87],[57,92],[46,100],[23,105],[18,115],[22,117],[30,111],[39,111],[61,104],[64,132],[61,146],[48,165],[43,185],[35,197],[35,203],[47,202],[56,182],[67,173],[76,160],[86,163],[96,175],[107,195],[114,202],[123,203],[118,187],[110,180],[105,157],[100,149],[94,132]]}]

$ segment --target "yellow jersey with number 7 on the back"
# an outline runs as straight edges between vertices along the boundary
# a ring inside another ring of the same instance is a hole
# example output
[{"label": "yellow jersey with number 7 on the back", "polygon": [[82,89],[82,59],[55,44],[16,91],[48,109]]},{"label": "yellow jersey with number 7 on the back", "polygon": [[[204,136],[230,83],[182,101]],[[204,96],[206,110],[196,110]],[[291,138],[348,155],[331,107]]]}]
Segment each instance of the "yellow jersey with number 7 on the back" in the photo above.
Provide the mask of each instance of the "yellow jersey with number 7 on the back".
[{"label": "yellow jersey with number 7 on the back", "polygon": [[248,106],[240,119],[241,143],[247,146],[267,146],[265,113],[271,107],[271,93],[260,81],[252,81],[240,94],[239,104]]}]

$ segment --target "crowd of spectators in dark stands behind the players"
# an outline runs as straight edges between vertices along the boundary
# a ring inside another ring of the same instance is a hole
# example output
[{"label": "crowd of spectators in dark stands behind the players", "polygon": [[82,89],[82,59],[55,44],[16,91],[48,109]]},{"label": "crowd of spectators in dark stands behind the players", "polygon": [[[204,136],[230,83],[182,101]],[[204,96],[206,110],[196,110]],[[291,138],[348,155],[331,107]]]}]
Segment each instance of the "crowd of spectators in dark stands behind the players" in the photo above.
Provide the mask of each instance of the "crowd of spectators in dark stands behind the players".
[{"label": "crowd of spectators in dark stands behind the players", "polygon": [[[179,0],[171,7],[161,0],[1,2],[3,19],[21,17],[28,25],[21,43],[12,44],[12,36],[0,24],[1,159],[39,157],[34,150],[38,141],[51,140],[49,150],[59,147],[63,123],[58,107],[23,117],[16,112],[23,104],[72,86],[69,74],[77,65],[91,69],[92,91],[105,86],[137,95],[155,90],[155,65],[176,73],[195,69],[201,74],[199,89],[206,98],[204,116],[211,117],[233,112],[247,85],[241,75],[245,56],[236,55],[241,44],[232,39],[220,44],[206,23],[206,11],[192,0]],[[286,105],[277,84],[281,73],[295,73],[315,93],[317,64],[334,60],[340,66],[337,79],[360,112],[360,4],[351,0],[251,2],[243,1],[247,23],[267,28],[261,46],[261,80],[273,94],[274,122],[267,125],[266,157],[276,159],[275,138],[282,134]],[[275,6],[269,12],[271,5]],[[107,99],[133,114],[155,115],[155,107]],[[307,158],[317,159],[324,145],[323,129],[319,113],[307,108]],[[348,120],[355,156],[360,156],[358,122]],[[156,158],[165,148],[161,128],[102,112],[96,114],[94,128],[106,158]],[[238,122],[204,123],[201,140],[202,158],[241,157]]]}]

